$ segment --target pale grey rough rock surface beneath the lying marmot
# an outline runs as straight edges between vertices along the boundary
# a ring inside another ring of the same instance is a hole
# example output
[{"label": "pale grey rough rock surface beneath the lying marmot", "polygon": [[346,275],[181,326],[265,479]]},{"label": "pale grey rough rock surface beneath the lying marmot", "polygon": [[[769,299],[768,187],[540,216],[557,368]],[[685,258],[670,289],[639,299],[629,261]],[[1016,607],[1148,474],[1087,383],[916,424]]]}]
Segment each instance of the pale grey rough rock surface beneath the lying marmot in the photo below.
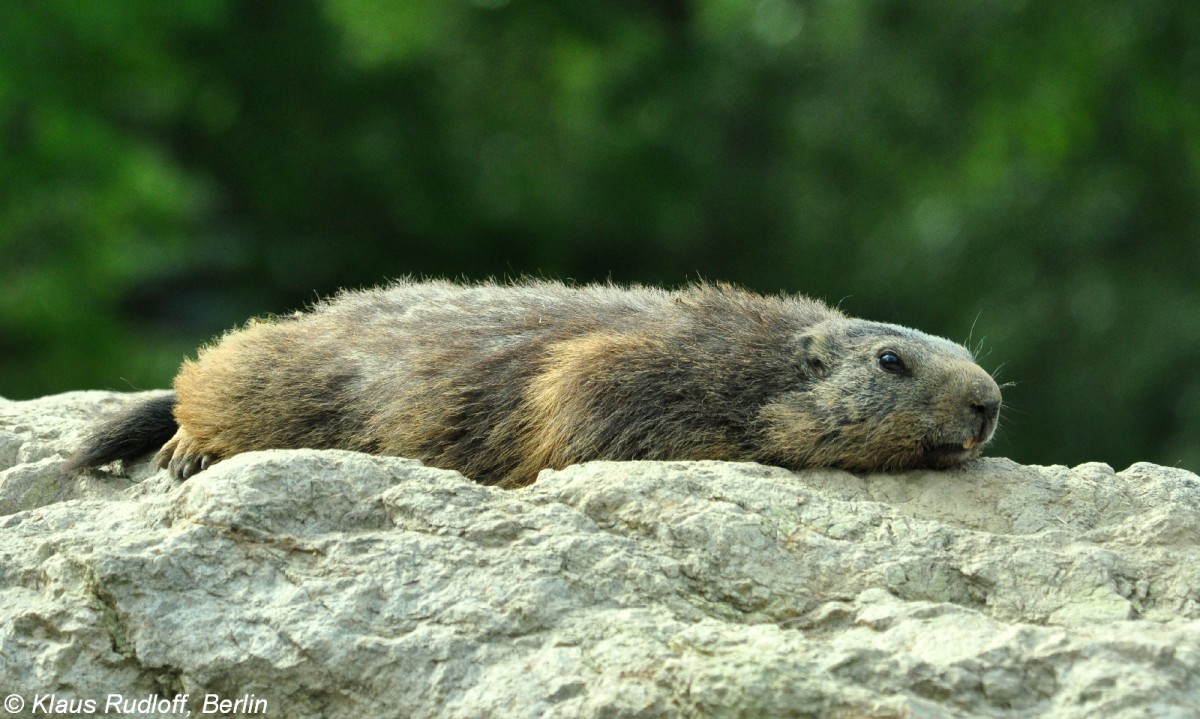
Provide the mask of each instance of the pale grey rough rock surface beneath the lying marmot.
[{"label": "pale grey rough rock surface beneath the lying marmot", "polygon": [[1198,715],[1181,469],[598,462],[504,491],[301,450],[65,474],[131,397],[0,401],[0,691],[24,714]]}]

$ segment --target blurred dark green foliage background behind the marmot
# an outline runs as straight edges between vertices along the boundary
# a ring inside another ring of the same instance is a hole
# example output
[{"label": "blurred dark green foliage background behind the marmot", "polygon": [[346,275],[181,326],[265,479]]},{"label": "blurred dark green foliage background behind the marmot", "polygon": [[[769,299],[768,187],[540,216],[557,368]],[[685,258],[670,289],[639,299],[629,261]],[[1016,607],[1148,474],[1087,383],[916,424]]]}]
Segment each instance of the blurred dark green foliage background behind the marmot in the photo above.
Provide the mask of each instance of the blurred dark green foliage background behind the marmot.
[{"label": "blurred dark green foliage background behind the marmot", "polygon": [[1200,469],[1187,0],[0,4],[0,395],[406,274],[803,292],[982,346],[994,454]]}]

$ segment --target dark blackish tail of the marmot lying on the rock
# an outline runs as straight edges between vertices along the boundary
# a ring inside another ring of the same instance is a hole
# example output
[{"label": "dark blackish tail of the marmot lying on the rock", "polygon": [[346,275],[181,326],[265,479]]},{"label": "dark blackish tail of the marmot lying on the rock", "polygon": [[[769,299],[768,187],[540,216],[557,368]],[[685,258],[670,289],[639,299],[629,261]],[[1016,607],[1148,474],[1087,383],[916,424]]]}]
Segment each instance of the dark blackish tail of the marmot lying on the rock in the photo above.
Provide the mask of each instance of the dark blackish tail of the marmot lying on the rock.
[{"label": "dark blackish tail of the marmot lying on the rock", "polygon": [[158,449],[175,435],[174,411],[175,393],[138,402],[96,427],[62,468],[80,472]]}]

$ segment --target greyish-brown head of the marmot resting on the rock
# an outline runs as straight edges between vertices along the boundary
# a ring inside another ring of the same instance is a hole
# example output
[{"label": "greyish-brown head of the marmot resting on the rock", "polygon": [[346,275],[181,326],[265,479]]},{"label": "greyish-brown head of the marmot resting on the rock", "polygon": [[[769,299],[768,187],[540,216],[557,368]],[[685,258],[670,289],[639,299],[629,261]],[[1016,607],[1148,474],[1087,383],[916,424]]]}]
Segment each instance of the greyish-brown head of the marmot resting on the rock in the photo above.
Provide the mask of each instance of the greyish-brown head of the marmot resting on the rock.
[{"label": "greyish-brown head of the marmot resting on the rock", "polygon": [[796,337],[800,382],[763,406],[775,461],[856,471],[949,467],[996,431],[1000,387],[960,344],[834,318]]}]

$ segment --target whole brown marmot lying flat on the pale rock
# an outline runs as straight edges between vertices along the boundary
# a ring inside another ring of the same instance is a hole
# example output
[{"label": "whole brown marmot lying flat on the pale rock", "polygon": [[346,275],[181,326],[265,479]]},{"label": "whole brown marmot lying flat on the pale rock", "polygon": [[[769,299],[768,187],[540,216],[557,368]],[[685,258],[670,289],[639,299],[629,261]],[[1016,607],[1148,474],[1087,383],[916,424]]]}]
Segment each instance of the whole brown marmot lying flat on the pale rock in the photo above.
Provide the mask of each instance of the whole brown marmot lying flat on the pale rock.
[{"label": "whole brown marmot lying flat on the pale rock", "polygon": [[949,340],[712,283],[400,281],[251,322],[174,384],[68,466],[162,444],[180,479],[272,448],[415,457],[508,487],[586,460],[941,468],[979,455],[1001,406]]}]

